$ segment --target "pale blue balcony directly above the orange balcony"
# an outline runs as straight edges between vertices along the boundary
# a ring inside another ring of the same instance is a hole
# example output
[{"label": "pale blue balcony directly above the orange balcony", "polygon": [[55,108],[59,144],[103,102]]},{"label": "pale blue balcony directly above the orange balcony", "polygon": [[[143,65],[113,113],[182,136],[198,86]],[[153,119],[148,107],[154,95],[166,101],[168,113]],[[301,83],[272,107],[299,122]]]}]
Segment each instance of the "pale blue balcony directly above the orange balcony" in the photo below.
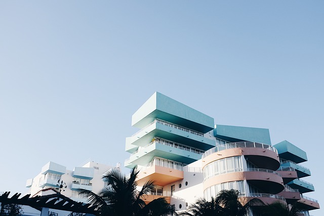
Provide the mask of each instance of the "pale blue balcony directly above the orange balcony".
[{"label": "pale blue balcony directly above the orange balcony", "polygon": [[204,151],[193,149],[178,143],[174,144],[155,140],[144,148],[134,152],[125,163],[125,166],[132,168],[134,164],[145,165],[149,163],[153,157],[161,157],[189,164],[201,159],[203,153]]}]

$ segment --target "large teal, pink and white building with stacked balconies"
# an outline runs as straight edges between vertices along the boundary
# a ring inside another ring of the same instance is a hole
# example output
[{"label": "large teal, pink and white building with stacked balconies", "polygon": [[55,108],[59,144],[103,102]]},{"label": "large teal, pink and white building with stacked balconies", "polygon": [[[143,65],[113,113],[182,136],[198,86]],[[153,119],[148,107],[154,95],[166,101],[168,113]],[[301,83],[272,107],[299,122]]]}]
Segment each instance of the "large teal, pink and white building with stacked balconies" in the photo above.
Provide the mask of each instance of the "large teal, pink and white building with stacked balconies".
[{"label": "large teal, pink and white building with stacked balconies", "polygon": [[132,116],[139,131],[126,138],[128,168],[140,170],[138,184],[154,180],[144,197],[167,197],[176,210],[197,198],[211,199],[223,189],[237,189],[241,200],[266,203],[299,201],[304,215],[319,208],[305,196],[314,191],[302,178],[306,153],[288,141],[271,145],[265,128],[218,125],[214,119],[158,92]]}]

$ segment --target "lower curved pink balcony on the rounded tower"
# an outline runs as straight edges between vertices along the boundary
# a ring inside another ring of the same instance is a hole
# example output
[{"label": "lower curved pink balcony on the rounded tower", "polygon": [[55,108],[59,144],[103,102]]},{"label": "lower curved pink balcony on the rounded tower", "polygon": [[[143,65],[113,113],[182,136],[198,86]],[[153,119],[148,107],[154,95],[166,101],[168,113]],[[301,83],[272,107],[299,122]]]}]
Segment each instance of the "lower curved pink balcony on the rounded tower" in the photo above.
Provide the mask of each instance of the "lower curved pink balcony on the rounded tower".
[{"label": "lower curved pink balcony on the rounded tower", "polygon": [[247,180],[250,185],[269,194],[276,194],[284,190],[280,174],[270,169],[248,168],[244,171],[229,172],[211,177],[203,183],[204,190],[217,184]]}]

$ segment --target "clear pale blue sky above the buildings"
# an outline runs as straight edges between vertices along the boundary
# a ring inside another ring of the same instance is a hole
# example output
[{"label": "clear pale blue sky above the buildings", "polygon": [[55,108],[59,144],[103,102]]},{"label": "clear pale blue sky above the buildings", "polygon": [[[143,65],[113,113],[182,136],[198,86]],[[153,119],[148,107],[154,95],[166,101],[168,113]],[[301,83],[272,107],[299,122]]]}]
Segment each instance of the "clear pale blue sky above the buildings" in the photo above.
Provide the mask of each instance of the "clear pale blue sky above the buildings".
[{"label": "clear pale blue sky above the buildings", "polygon": [[[324,207],[324,1],[0,2],[0,191],[129,157],[155,92],[307,152]],[[127,170],[124,168],[124,170]],[[324,215],[322,209],[312,215]]]}]

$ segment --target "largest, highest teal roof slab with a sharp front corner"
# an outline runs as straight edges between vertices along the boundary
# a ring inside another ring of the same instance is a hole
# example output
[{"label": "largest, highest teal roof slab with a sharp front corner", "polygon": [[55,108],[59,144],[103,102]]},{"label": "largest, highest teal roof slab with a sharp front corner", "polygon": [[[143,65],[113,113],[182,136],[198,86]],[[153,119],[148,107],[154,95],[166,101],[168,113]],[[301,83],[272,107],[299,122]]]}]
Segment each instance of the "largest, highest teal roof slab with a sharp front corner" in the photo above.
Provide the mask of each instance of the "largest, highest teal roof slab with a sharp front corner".
[{"label": "largest, highest teal roof slab with a sharp front corner", "polygon": [[154,119],[207,133],[214,129],[214,118],[186,106],[161,93],[155,92],[132,116],[132,126],[142,128]]}]

